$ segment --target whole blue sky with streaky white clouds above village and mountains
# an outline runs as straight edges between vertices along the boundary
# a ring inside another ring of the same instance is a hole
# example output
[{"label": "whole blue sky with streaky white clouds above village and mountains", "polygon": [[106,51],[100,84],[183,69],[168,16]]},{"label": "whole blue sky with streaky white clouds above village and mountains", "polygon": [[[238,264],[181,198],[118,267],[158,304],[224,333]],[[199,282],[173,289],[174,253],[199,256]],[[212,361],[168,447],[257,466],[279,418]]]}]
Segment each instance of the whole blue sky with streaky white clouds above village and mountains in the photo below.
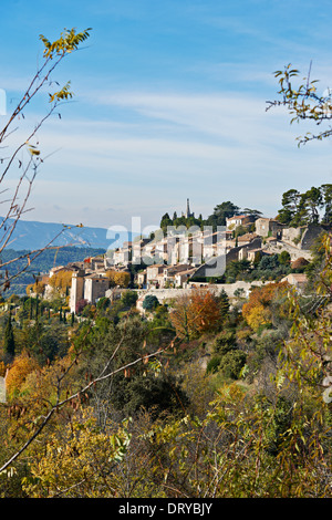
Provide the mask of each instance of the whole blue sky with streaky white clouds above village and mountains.
[{"label": "whole blue sky with streaky white clouds above village and mountains", "polygon": [[286,190],[332,183],[331,143],[299,149],[309,128],[266,112],[273,71],[288,63],[305,75],[312,60],[319,89],[332,85],[331,15],[324,0],[2,0],[8,112],[41,62],[39,34],[92,28],[53,76],[71,80],[75,97],[39,133],[52,155],[25,218],[145,227],[187,198],[204,217],[225,200],[273,217]]}]

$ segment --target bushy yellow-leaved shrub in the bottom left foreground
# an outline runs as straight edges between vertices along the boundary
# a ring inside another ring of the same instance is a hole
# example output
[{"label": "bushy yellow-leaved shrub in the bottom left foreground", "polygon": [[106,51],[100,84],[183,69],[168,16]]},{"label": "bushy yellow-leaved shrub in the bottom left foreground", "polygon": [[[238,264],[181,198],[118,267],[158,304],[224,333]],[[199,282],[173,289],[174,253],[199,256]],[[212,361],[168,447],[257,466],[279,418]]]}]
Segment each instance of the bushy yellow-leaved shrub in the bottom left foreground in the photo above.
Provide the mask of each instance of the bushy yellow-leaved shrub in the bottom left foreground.
[{"label": "bushy yellow-leaved shrub in the bottom left foreground", "polygon": [[[34,478],[24,479],[29,497],[103,498],[116,497],[116,468],[123,462],[131,444],[129,420],[116,431],[102,431],[93,409],[73,417],[60,436],[54,431],[46,441],[44,454],[33,460]],[[69,486],[70,479],[70,486]]]}]

